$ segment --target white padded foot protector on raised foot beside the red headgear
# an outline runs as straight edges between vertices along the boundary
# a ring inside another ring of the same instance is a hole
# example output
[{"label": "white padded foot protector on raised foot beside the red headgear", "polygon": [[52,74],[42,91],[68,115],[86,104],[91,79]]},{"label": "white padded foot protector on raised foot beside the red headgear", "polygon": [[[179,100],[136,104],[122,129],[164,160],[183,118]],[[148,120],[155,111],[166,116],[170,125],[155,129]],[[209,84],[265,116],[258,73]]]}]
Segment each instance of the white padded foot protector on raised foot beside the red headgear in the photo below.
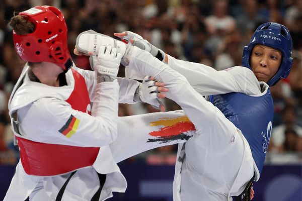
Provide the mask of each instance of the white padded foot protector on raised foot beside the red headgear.
[{"label": "white padded foot protector on raised foot beside the red headgear", "polygon": [[97,55],[102,45],[111,45],[113,48],[116,48],[117,52],[121,53],[122,58],[126,52],[127,46],[125,43],[119,40],[115,40],[114,38],[97,33],[93,30],[88,30],[78,35],[75,48],[79,52],[83,52],[85,54],[92,52]]}]

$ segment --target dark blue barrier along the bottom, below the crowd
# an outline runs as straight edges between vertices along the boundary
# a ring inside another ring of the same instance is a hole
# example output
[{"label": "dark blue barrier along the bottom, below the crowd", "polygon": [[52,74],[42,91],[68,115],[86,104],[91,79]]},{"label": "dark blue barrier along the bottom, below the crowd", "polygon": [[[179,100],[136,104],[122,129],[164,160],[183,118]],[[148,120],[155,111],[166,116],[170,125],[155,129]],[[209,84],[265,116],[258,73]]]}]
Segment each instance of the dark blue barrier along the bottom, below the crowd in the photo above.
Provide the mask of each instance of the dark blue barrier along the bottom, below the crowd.
[{"label": "dark blue barrier along the bottom, below the crowd", "polygon": [[[172,201],[174,166],[119,163],[128,182],[125,193],[109,201]],[[0,165],[0,200],[5,196],[15,167]],[[266,165],[254,184],[255,201],[301,201],[302,165]],[[18,193],[18,192],[16,192]]]}]

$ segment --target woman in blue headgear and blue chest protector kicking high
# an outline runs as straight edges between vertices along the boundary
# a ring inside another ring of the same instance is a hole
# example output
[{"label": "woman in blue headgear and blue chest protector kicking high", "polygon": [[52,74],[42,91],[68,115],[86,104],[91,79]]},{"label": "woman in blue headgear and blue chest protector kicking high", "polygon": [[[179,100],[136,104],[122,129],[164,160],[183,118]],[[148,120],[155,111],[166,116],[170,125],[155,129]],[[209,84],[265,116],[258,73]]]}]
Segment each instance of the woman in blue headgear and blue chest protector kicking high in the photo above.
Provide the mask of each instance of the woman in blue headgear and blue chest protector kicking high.
[{"label": "woman in blue headgear and blue chest protector kicking high", "polygon": [[291,67],[288,30],[277,23],[261,25],[244,51],[244,67],[222,71],[175,59],[132,32],[115,35],[146,50],[127,47],[126,76],[151,75],[163,81],[169,88],[167,97],[182,107],[196,128],[196,135],[179,144],[174,200],[249,200],[271,135],[269,86],[285,78]]}]

